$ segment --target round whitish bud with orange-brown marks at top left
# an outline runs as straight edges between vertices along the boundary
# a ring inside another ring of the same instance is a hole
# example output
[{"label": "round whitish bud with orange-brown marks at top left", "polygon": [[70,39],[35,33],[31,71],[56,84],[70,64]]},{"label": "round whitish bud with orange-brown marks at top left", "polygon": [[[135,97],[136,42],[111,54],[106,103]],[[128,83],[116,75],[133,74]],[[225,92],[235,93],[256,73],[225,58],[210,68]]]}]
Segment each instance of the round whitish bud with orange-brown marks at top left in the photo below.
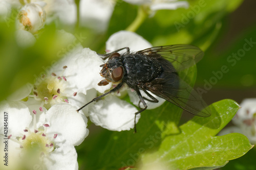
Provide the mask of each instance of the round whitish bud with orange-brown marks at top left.
[{"label": "round whitish bud with orange-brown marks at top left", "polygon": [[20,9],[16,20],[16,26],[19,30],[36,33],[45,25],[46,12],[37,4],[26,4]]}]

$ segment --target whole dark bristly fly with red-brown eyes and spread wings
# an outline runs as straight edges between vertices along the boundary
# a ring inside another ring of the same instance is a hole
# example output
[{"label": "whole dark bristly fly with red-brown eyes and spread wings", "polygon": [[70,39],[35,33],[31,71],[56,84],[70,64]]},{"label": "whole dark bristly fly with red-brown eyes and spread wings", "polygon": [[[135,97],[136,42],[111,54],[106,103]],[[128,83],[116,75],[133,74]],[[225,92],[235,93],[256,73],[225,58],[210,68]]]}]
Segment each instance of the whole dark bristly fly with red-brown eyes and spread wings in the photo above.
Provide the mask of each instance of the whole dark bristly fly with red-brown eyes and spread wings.
[{"label": "whole dark bristly fly with red-brown eyes and spread wings", "polygon": [[[124,49],[126,53],[118,53]],[[144,106],[135,113],[134,132],[136,132],[136,115],[147,108],[145,101],[158,103],[158,100],[148,91],[192,114],[208,117],[210,112],[205,109],[206,103],[178,74],[180,70],[195,65],[203,55],[200,48],[193,45],[156,46],[134,53],[130,53],[129,47],[124,47],[102,55],[102,59],[108,59],[108,61],[100,65],[102,67],[100,75],[104,80],[98,85],[105,86],[110,82],[118,85],[94,98],[77,112],[103,96],[118,91],[126,84],[136,91],[140,99],[139,104],[141,102]],[[141,95],[140,90],[147,95],[147,98]]]}]

